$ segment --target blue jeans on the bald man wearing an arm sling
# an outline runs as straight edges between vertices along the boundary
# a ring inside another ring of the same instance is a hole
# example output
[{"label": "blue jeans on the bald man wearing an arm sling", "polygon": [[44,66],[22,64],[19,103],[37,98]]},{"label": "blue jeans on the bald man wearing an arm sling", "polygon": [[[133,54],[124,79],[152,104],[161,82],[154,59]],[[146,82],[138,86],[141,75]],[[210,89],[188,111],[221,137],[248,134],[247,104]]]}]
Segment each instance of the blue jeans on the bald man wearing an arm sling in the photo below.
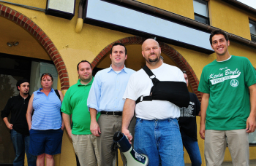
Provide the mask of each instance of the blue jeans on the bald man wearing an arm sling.
[{"label": "blue jeans on the bald man wearing an arm sling", "polygon": [[184,166],[177,119],[137,118],[134,143],[135,151],[148,156],[148,166]]}]

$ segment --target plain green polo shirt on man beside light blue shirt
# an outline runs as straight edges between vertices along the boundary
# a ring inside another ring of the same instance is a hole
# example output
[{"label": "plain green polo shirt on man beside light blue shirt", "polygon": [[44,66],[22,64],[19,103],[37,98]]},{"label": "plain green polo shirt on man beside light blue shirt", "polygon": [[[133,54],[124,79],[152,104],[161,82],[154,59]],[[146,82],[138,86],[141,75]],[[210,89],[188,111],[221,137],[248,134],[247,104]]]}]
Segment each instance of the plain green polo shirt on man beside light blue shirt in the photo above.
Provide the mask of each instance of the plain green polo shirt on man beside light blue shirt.
[{"label": "plain green polo shirt on man beside light blue shirt", "polygon": [[[69,87],[67,90],[62,106],[61,112],[71,115],[72,114],[72,134],[75,135],[89,135],[91,134],[91,116],[87,107],[87,98],[91,89],[91,84],[94,81],[92,78],[89,84],[81,84],[80,79],[78,83]],[[97,114],[97,119],[100,114]]]}]

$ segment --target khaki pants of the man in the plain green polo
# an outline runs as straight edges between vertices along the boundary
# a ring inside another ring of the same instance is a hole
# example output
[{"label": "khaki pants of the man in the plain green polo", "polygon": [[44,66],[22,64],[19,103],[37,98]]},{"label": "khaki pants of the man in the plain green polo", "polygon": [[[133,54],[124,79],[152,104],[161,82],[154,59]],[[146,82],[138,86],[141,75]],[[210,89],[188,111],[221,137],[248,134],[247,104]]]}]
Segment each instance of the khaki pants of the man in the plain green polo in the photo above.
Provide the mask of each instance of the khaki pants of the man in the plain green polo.
[{"label": "khaki pants of the man in the plain green polo", "polygon": [[94,135],[73,135],[72,142],[81,166],[97,166],[99,151]]}]

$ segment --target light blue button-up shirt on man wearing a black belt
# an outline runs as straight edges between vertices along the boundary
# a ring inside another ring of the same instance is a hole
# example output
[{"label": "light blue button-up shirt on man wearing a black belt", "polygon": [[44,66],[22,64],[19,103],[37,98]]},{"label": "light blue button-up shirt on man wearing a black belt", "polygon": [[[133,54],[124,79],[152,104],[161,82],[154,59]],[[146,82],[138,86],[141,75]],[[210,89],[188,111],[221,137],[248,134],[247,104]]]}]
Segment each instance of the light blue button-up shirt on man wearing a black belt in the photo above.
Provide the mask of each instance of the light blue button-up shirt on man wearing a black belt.
[{"label": "light blue button-up shirt on man wearing a black belt", "polygon": [[122,98],[133,73],[134,70],[125,66],[121,72],[114,71],[111,66],[99,71],[91,85],[87,106],[97,111],[123,111]]}]

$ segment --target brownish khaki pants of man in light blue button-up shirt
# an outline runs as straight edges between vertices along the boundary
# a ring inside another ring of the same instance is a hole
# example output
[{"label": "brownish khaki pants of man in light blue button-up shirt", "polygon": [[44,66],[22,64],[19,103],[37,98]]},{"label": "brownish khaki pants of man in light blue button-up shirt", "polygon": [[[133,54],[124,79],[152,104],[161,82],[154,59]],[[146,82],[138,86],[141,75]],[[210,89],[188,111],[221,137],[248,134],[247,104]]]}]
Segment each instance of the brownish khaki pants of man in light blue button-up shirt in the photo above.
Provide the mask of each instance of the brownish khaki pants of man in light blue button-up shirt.
[{"label": "brownish khaki pants of man in light blue button-up shirt", "polygon": [[[121,118],[122,116],[113,116],[102,114],[99,116],[98,124],[101,134],[97,137],[97,144],[99,148],[99,166],[112,166],[113,159],[115,158],[115,151],[111,151],[113,143],[113,135],[117,131],[121,131]],[[136,119],[132,118],[129,124],[129,132],[134,137]],[[133,145],[133,143],[132,143]],[[126,165],[124,154],[121,153],[123,165]]]}]

